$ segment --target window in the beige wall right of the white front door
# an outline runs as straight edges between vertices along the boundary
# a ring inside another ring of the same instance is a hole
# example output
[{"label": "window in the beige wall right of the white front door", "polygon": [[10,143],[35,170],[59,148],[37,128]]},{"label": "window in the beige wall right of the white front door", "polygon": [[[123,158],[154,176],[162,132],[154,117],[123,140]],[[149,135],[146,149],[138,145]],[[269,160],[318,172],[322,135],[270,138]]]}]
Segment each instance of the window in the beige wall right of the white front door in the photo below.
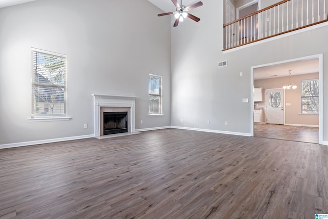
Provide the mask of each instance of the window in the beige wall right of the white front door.
[{"label": "window in the beige wall right of the white front door", "polygon": [[319,80],[301,81],[301,113],[319,113]]}]

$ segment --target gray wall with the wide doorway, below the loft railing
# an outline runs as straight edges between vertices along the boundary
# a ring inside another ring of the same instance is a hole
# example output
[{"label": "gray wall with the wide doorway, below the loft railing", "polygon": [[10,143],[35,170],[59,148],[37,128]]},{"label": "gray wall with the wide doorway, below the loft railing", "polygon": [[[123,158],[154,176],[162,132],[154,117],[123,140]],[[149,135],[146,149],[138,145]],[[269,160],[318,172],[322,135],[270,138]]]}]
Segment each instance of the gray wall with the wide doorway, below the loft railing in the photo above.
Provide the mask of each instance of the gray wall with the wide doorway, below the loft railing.
[{"label": "gray wall with the wide doorway, below the loft railing", "polygon": [[[222,52],[222,1],[203,0],[191,20],[172,30],[172,126],[251,133],[251,67],[323,53],[328,63],[328,26],[247,48]],[[173,40],[174,39],[174,40]],[[217,63],[228,61],[218,68]],[[243,76],[239,76],[243,72]],[[323,66],[323,93],[328,66]],[[323,140],[328,140],[328,96],[323,95]],[[196,113],[195,113],[196,112]],[[182,123],[181,123],[182,119]],[[207,124],[207,121],[210,124]],[[229,125],[224,125],[228,121]]]}]

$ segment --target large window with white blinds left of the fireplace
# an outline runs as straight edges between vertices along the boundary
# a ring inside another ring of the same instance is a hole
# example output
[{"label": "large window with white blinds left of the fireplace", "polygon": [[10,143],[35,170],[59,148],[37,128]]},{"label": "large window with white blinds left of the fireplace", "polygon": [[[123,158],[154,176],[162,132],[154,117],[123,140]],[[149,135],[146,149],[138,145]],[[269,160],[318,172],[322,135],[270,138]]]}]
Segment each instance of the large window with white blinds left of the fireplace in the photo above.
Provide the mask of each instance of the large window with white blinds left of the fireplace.
[{"label": "large window with white blinds left of the fireplace", "polygon": [[32,117],[65,117],[67,57],[32,49],[32,59]]}]

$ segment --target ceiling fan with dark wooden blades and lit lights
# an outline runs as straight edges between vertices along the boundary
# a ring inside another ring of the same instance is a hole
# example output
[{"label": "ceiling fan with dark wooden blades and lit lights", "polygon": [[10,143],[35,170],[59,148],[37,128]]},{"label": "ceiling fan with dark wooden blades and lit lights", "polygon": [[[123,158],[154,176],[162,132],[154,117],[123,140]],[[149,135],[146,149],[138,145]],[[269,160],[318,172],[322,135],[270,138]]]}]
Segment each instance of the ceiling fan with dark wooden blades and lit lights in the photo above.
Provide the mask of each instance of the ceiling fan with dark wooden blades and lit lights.
[{"label": "ceiling fan with dark wooden blades and lit lights", "polygon": [[176,10],[173,12],[167,12],[167,13],[162,13],[162,14],[158,14],[157,16],[164,16],[164,15],[170,15],[170,14],[174,14],[175,17],[175,22],[173,27],[177,27],[179,22],[183,22],[183,19],[186,17],[189,17],[190,19],[194,20],[195,22],[199,22],[200,18],[188,13],[188,11],[197,8],[199,6],[202,6],[203,3],[202,2],[196,2],[194,4],[191,4],[190,6],[184,6],[182,5],[182,0],[180,1],[180,4],[178,3],[177,0],[171,0],[173,2],[173,4],[175,5]]}]

